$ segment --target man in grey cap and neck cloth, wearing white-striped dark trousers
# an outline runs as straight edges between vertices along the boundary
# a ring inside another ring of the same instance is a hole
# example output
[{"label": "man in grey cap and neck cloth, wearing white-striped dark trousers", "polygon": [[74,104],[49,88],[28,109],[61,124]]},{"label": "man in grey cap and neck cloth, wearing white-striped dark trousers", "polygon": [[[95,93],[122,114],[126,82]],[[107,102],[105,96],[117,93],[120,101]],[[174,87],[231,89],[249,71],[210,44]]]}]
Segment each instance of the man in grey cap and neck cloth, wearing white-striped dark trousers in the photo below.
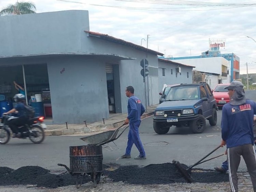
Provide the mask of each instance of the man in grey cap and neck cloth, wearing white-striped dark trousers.
[{"label": "man in grey cap and neck cloth, wearing white-striped dark trousers", "polygon": [[228,89],[230,102],[222,109],[221,146],[227,145],[231,191],[238,192],[237,170],[243,156],[256,192],[256,153],[253,148],[253,117],[256,114],[256,103],[246,99],[244,86],[239,81],[232,81],[225,89]]}]

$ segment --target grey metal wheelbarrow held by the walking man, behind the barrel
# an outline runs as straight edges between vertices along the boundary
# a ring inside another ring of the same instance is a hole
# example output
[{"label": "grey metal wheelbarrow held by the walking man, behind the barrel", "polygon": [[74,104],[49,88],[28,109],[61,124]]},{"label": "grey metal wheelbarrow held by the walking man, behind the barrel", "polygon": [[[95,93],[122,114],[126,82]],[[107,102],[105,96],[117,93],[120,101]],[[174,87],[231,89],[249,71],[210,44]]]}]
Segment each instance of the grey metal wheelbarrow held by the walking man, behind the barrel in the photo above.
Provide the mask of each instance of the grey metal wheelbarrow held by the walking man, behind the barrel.
[{"label": "grey metal wheelbarrow held by the walking man, behind the barrel", "polygon": [[[111,130],[111,131],[105,131],[103,133],[98,133],[95,135],[89,135],[82,139],[84,142],[88,143],[87,145],[105,145],[107,143],[113,142],[120,137],[124,133],[127,127],[127,125],[122,132],[119,133],[120,129],[125,125],[122,124],[120,127],[118,127],[116,130]],[[119,134],[118,134],[119,133]],[[115,143],[114,143],[115,144]]]}]

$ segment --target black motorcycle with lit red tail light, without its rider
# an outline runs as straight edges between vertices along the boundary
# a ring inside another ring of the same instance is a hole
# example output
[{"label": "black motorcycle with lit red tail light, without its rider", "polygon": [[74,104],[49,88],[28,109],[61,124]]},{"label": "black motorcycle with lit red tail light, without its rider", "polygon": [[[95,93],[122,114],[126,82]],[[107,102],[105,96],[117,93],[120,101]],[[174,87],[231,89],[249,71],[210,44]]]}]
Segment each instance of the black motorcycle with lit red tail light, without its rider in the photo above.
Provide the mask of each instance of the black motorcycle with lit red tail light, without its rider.
[{"label": "black motorcycle with lit red tail light, without its rider", "polygon": [[[8,121],[17,118],[10,115],[3,115],[0,123],[0,144],[6,144],[9,142],[11,133],[8,126]],[[25,125],[18,127],[21,136],[19,138],[26,139],[27,137],[31,142],[35,144],[42,143],[44,141],[44,130],[46,125],[43,123],[44,117],[34,117],[28,119]]]}]

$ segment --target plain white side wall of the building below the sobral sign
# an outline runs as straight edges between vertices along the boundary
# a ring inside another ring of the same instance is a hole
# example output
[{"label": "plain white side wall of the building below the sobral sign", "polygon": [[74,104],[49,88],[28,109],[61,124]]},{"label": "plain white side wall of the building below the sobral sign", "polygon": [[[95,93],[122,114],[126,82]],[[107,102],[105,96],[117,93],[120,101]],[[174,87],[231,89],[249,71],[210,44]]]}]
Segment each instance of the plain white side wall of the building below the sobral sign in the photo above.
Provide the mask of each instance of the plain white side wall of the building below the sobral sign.
[{"label": "plain white side wall of the building below the sobral sign", "polygon": [[224,57],[207,57],[194,59],[175,59],[174,62],[195,66],[194,70],[222,74],[222,65],[228,67],[228,60]]}]

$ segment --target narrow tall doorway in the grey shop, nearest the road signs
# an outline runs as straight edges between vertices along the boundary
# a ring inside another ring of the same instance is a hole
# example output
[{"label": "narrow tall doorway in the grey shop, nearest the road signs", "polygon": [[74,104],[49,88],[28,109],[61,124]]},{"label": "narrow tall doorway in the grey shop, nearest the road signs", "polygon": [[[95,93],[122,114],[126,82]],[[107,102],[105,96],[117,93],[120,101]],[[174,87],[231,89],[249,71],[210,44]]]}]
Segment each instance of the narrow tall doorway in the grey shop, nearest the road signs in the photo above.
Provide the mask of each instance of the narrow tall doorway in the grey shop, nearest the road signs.
[{"label": "narrow tall doorway in the grey shop, nearest the road signs", "polygon": [[122,113],[119,65],[106,63],[109,113]]}]

